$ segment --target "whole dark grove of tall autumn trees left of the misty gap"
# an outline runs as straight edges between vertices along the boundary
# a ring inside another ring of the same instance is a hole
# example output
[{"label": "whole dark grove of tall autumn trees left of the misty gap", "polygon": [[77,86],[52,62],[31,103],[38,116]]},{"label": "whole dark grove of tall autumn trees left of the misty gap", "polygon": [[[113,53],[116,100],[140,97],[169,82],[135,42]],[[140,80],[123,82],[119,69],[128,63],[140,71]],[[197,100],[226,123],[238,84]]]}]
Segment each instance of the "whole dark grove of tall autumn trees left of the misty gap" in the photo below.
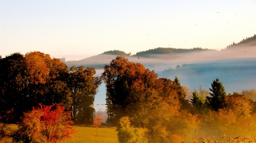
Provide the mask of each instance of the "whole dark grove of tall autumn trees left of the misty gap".
[{"label": "whole dark grove of tall autumn trees left of the misty gap", "polygon": [[72,111],[74,122],[93,121],[94,96],[100,84],[95,69],[67,69],[59,59],[38,51],[1,58],[0,69],[0,115],[5,117],[12,110],[8,122],[19,121],[32,107],[52,103]]}]

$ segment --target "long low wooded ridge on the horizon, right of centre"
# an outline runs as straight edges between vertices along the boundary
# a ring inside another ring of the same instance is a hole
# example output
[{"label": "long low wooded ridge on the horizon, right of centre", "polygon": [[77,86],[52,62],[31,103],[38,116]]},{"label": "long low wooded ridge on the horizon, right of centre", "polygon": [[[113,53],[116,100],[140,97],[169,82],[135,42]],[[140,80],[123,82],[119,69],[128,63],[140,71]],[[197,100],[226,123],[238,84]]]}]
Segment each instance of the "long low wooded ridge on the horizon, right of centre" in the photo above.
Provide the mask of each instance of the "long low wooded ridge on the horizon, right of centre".
[{"label": "long low wooded ridge on the horizon, right of centre", "polygon": [[133,56],[143,56],[152,58],[154,54],[175,54],[175,53],[188,53],[195,51],[210,51],[211,49],[193,48],[193,49],[177,49],[177,48],[154,48],[146,51],[137,52]]}]

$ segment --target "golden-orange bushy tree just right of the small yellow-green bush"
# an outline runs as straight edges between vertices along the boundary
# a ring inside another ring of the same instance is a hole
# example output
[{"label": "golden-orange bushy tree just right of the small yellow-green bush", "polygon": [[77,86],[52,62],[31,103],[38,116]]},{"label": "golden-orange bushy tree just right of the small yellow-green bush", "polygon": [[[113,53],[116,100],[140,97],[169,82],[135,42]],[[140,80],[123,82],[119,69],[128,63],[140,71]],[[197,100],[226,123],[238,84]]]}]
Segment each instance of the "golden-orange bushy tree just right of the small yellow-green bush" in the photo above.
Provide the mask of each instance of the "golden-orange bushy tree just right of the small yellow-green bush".
[{"label": "golden-orange bushy tree just right of the small yellow-green bush", "polygon": [[198,131],[200,119],[191,115],[186,110],[178,110],[175,107],[163,104],[158,109],[152,110],[147,126],[148,142],[169,142],[174,134],[191,139]]}]

